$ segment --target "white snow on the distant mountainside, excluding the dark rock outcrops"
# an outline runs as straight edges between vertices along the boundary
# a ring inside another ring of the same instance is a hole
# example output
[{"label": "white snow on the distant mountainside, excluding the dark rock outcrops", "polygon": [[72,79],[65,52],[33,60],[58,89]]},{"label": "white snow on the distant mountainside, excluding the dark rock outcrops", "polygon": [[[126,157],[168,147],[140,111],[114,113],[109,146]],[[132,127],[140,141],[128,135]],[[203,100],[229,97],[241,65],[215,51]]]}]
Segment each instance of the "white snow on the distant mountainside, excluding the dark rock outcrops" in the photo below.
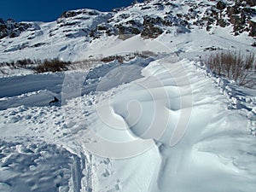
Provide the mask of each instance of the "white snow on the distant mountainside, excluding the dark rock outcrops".
[{"label": "white snow on the distant mountainside, excluding the dark rock outcrops", "polygon": [[[241,33],[238,37],[230,35],[233,31],[232,26],[212,27],[211,32],[206,32],[205,27],[198,29],[199,26],[193,26],[192,29],[186,29],[190,32],[183,34],[185,29],[178,24],[174,16],[179,13],[188,13],[189,6],[194,4],[200,6],[201,13],[198,14],[201,17],[209,4],[214,3],[191,1],[191,5],[187,5],[183,1],[173,1],[172,5],[164,6],[164,9],[161,10],[154,1],[150,1],[147,3],[150,9],[142,9],[142,6],[146,6],[145,3],[137,3],[133,7],[121,9],[114,15],[108,12],[81,9],[80,12],[84,14],[71,18],[59,18],[57,21],[49,23],[34,22],[32,23],[33,28],[22,32],[20,37],[1,39],[0,61],[16,61],[25,58],[39,60],[60,58],[65,61],[83,61],[88,59],[90,55],[96,58],[142,50],[151,50],[157,53],[195,52],[209,46],[220,49],[253,49],[250,47],[250,44],[253,44],[253,38],[248,37],[247,32]],[[173,15],[167,14],[171,11]],[[90,15],[89,12],[93,14]],[[120,15],[128,15],[128,17],[121,19]],[[163,26],[164,33],[154,40],[143,39],[138,35],[122,41],[117,36],[108,36],[104,32],[100,38],[89,37],[90,30],[94,30],[96,25],[102,22],[113,26],[119,23],[126,25],[126,20],[141,20],[143,22],[143,16],[146,15],[159,16],[160,18],[170,17],[170,21],[175,25]],[[111,20],[108,20],[109,18]]]}]

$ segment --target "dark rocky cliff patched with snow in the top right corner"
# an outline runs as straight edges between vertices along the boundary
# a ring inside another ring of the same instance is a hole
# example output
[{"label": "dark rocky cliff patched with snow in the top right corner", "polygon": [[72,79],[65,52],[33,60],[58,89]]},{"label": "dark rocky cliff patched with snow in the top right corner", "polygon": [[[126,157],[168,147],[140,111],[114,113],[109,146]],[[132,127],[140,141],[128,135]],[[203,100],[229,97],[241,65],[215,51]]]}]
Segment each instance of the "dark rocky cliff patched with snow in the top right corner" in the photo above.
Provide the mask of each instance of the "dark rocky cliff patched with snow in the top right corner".
[{"label": "dark rocky cliff patched with snow in the top right corner", "polygon": [[232,26],[233,35],[242,32],[255,37],[253,17],[256,15],[255,1],[208,1],[198,3],[185,1],[189,5],[187,13],[178,14],[177,17],[189,22],[189,26],[201,26],[210,31],[214,26]]}]

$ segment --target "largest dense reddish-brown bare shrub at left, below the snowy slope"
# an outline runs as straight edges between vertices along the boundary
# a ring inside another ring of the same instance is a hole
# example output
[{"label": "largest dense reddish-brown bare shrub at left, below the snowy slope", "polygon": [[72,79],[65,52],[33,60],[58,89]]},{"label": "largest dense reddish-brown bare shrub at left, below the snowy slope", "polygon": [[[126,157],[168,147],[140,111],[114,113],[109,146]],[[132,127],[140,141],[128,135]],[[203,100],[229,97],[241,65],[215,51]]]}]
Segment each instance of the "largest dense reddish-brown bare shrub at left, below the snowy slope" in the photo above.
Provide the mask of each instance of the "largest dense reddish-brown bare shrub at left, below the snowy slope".
[{"label": "largest dense reddish-brown bare shrub at left, below the snowy slope", "polygon": [[[41,62],[41,61],[39,61]],[[67,65],[71,64],[69,61],[60,61],[59,59],[44,60],[37,67],[34,67],[36,73],[45,72],[62,72],[67,71]]]}]

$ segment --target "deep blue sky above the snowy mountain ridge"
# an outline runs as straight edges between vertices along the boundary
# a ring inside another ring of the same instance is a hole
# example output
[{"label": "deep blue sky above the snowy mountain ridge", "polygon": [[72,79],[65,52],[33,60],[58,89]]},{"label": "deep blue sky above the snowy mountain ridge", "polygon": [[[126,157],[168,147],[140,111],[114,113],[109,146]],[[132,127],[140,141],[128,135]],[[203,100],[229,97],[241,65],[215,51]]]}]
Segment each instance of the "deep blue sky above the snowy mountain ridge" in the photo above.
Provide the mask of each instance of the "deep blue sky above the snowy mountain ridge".
[{"label": "deep blue sky above the snowy mountain ridge", "polygon": [[[53,21],[62,12],[72,9],[98,9],[110,11],[113,8],[130,5],[134,0],[1,0],[0,18],[17,21]],[[140,2],[143,2],[142,0]]]}]

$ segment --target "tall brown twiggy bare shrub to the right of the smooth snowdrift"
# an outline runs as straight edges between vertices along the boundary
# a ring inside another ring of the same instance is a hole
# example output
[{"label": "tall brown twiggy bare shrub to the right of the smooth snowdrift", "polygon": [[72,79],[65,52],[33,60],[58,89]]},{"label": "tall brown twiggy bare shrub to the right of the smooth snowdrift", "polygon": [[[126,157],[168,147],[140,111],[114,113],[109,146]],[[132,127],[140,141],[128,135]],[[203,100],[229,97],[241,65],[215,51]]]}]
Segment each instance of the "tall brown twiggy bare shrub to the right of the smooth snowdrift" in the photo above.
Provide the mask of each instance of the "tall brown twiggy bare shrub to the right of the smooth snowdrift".
[{"label": "tall brown twiggy bare shrub to the right of the smooth snowdrift", "polygon": [[222,51],[210,55],[206,65],[220,76],[236,81],[239,85],[251,83],[249,76],[253,73],[254,53],[242,54],[241,51]]}]

